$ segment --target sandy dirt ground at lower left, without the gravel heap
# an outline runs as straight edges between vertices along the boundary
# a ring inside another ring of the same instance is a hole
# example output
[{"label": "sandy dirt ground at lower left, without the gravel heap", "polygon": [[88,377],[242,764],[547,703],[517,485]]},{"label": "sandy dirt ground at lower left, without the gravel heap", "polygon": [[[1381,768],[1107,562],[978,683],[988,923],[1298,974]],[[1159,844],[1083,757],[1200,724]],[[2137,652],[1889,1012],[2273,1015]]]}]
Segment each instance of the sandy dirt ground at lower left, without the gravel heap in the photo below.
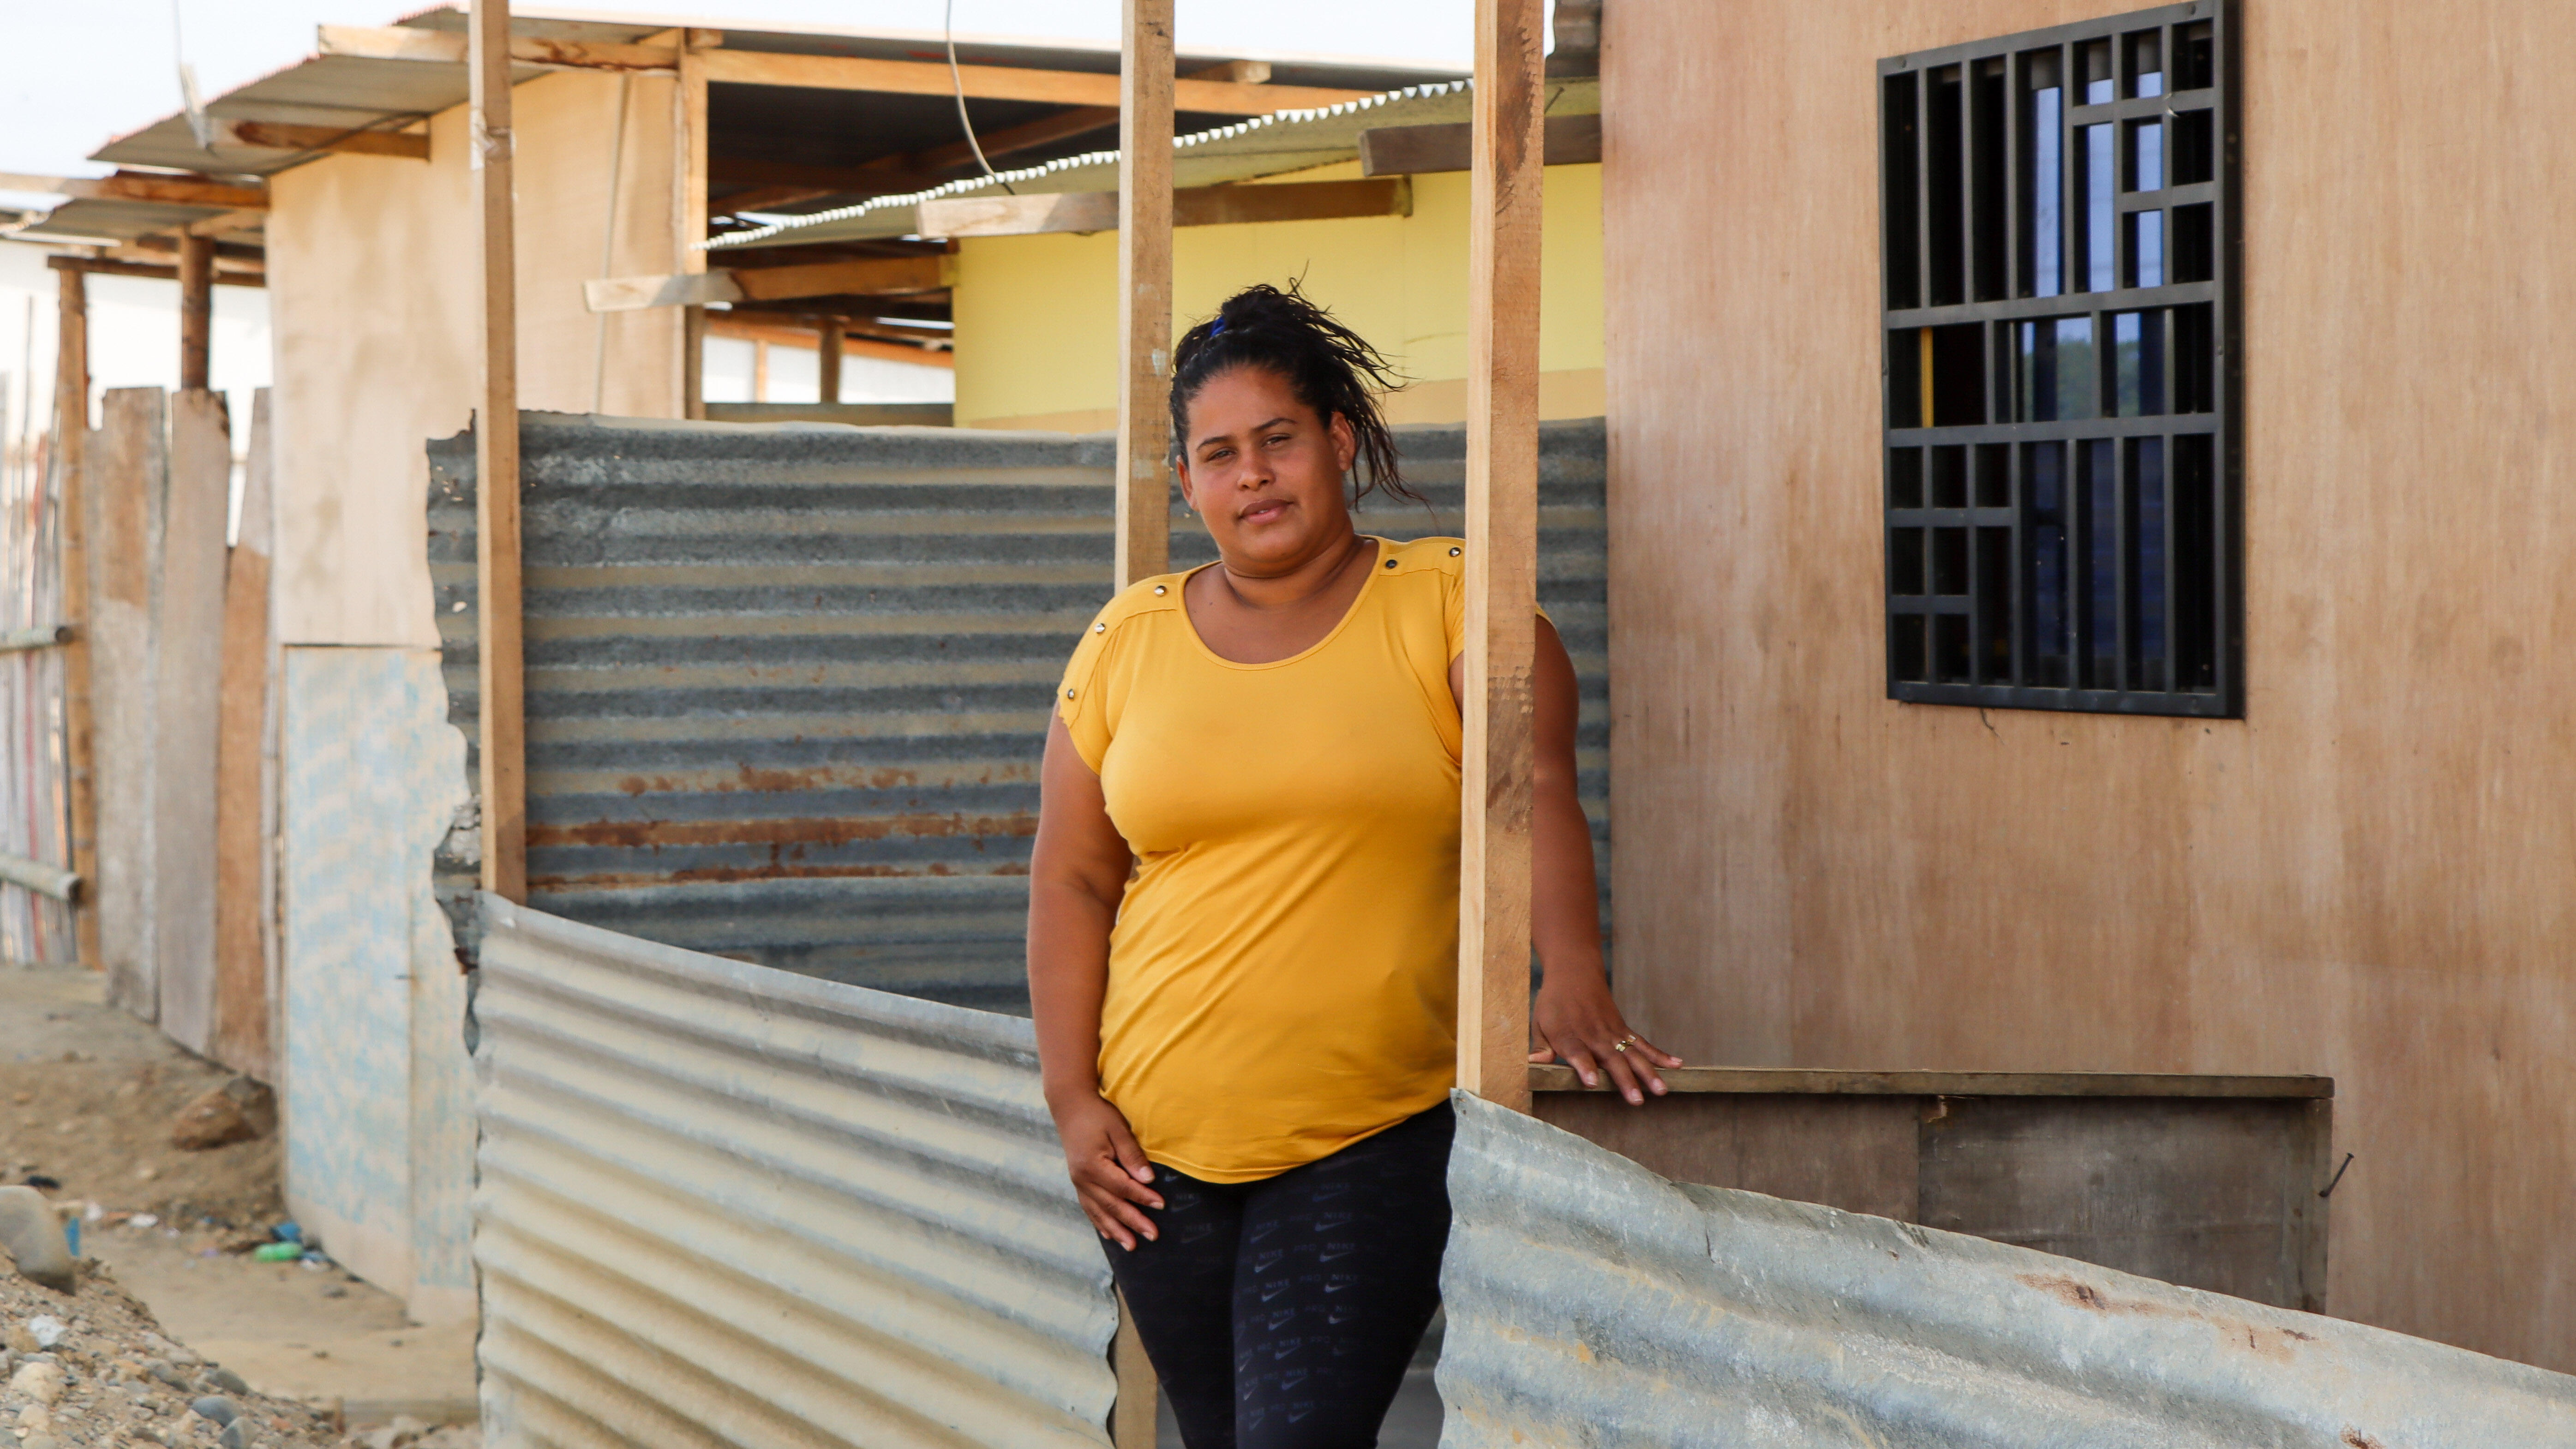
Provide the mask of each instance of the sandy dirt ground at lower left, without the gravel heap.
[{"label": "sandy dirt ground at lower left, without the gravel heap", "polygon": [[[322,1439],[340,1428],[386,1439],[381,1426],[397,1421],[407,1434],[417,1428],[410,1421],[469,1423],[471,1323],[422,1328],[402,1300],[337,1264],[260,1264],[234,1251],[286,1215],[276,1132],[209,1150],[170,1145],[180,1109],[227,1081],[224,1068],[106,1006],[95,973],[0,970],[0,1181],[36,1179],[82,1217],[82,1256],[103,1266],[98,1292],[134,1297],[131,1315],[111,1305],[93,1320],[131,1318],[183,1346],[180,1354],[222,1364],[255,1395],[322,1405],[332,1423]],[[330,1243],[319,1248],[327,1253]],[[8,1274],[5,1259],[0,1287],[52,1297]],[[82,1297],[90,1292],[85,1282]],[[41,1307],[0,1305],[8,1318],[0,1331],[28,1313]],[[126,1359],[149,1349],[124,1328],[111,1338],[90,1354],[95,1380],[116,1374],[108,1349]],[[137,1374],[124,1380],[147,1382]],[[438,1434],[438,1444],[456,1439],[459,1431]]]}]

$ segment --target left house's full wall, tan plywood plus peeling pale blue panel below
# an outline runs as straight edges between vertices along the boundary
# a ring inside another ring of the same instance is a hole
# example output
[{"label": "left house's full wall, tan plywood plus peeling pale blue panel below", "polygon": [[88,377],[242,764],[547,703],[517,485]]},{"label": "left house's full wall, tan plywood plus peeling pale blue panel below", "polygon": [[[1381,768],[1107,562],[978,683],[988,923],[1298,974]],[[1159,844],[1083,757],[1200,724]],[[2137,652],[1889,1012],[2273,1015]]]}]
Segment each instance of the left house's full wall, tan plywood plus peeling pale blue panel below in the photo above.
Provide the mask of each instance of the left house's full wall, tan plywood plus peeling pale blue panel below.
[{"label": "left house's full wall, tan plywood plus peeling pale blue panel below", "polygon": [[[580,299],[603,275],[621,88],[605,275],[677,268],[672,80],[520,85],[520,399],[677,417],[680,314],[603,329]],[[420,546],[425,445],[466,427],[479,389],[466,113],[430,118],[428,162],[325,157],[270,198],[286,1186],[296,1217],[417,1318],[466,1318],[464,978],[430,901],[466,775]]]}]

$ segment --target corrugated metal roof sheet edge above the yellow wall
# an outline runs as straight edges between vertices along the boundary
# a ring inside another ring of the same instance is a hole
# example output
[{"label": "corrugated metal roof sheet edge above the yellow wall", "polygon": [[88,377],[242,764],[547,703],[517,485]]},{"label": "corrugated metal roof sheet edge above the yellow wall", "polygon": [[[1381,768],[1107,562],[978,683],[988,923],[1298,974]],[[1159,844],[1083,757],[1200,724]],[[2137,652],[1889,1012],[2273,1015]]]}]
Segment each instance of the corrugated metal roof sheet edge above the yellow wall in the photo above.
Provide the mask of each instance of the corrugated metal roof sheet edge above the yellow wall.
[{"label": "corrugated metal roof sheet edge above the yellow wall", "polygon": [[[1548,82],[1548,116],[1597,116],[1602,108],[1600,77],[1566,77]],[[1360,131],[1378,126],[1437,126],[1468,118],[1468,82],[1448,80],[1437,85],[1406,85],[1383,95],[1321,106],[1314,111],[1278,111],[1255,116],[1213,131],[1193,131],[1172,139],[1172,185],[1224,185],[1231,180],[1257,180],[1314,170],[1321,165],[1358,160]],[[920,229],[922,201],[951,196],[1010,193],[1066,193],[1066,190],[1118,190],[1118,152],[1082,152],[1054,162],[951,180],[930,190],[907,196],[878,196],[858,206],[796,216],[755,232],[734,232],[706,242],[706,250],[744,247],[801,247],[811,242],[853,242],[871,237],[912,237]]]}]

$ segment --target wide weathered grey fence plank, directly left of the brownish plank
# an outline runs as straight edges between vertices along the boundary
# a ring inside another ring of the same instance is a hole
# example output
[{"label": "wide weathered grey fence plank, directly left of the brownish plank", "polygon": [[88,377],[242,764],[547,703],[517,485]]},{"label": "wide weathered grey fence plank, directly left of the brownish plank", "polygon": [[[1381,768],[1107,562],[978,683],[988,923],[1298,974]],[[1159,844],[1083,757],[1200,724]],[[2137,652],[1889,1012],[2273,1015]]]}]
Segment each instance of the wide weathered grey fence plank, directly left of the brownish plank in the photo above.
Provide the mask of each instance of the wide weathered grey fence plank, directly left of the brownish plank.
[{"label": "wide weathered grey fence plank, directly left of the brownish plank", "polygon": [[170,474],[152,579],[152,960],[162,1032],[214,1048],[214,803],[224,679],[224,394],[170,396]]}]

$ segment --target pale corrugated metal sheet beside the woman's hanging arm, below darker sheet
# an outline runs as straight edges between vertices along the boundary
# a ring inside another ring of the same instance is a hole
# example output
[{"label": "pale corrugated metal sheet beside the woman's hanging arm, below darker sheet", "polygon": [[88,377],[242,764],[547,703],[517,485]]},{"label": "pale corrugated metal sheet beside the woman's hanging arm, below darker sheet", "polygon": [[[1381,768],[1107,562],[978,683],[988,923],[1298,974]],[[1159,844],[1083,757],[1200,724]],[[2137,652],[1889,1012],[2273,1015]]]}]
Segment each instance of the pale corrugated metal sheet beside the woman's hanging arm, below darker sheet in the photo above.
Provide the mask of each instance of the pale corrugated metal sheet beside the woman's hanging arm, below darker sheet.
[{"label": "pale corrugated metal sheet beside the woman's hanging arm, below darker sheet", "polygon": [[487,1444],[1108,1444],[1028,1022],[482,911]]}]

